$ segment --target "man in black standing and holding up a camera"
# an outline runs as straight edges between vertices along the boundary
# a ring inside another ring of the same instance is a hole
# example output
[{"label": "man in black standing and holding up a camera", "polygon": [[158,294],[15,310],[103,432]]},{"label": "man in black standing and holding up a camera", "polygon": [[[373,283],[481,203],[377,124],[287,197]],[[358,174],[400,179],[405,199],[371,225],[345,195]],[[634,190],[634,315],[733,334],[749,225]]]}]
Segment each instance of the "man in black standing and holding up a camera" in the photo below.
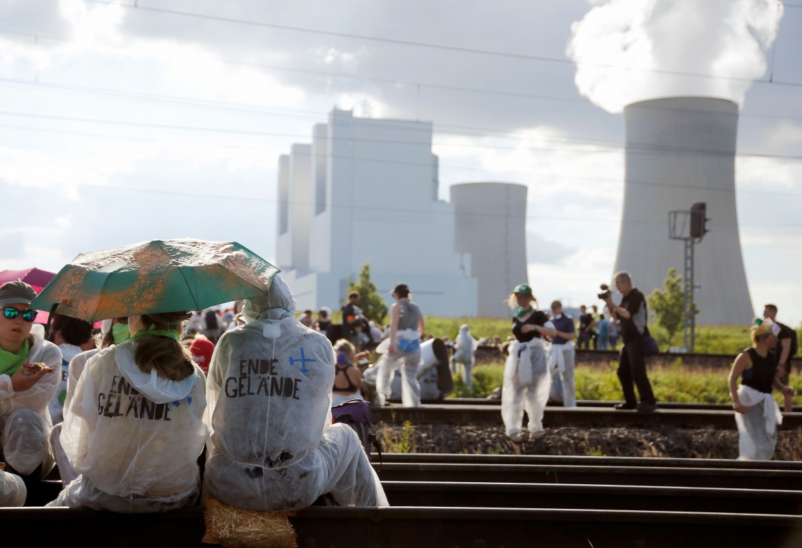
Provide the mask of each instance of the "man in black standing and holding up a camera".
[{"label": "man in black standing and holding up a camera", "polygon": [[[646,363],[643,360],[642,338],[647,332],[646,298],[632,286],[632,278],[628,272],[615,274],[615,287],[623,295],[621,304],[613,302],[607,286],[602,286],[598,294],[607,304],[614,319],[621,320],[621,334],[624,346],[618,355],[618,380],[624,392],[624,403],[615,405],[616,409],[638,409],[651,412],[657,409],[649,377],[646,376]],[[641,403],[635,398],[634,387],[638,387]]]}]

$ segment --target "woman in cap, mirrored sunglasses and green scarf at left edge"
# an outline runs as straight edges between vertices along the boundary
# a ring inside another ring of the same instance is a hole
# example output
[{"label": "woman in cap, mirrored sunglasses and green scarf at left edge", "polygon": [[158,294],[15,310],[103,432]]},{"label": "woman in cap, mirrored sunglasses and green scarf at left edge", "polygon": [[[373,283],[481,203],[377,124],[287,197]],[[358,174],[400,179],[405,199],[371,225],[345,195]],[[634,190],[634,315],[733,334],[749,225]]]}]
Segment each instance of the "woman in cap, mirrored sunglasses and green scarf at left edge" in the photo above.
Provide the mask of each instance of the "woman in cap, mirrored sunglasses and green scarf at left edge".
[{"label": "woman in cap, mirrored sunglasses and green scarf at left edge", "polygon": [[[54,370],[61,368],[59,347],[45,340],[41,325],[34,325],[36,311],[28,308],[34,297],[36,292],[25,282],[0,287],[0,449],[6,473],[22,477],[29,500],[38,496],[39,480],[53,465],[48,455],[52,424],[47,404],[59,388]],[[25,490],[16,483],[16,488]],[[11,492],[20,494],[10,482],[0,482],[0,503],[4,495],[13,499]]]}]

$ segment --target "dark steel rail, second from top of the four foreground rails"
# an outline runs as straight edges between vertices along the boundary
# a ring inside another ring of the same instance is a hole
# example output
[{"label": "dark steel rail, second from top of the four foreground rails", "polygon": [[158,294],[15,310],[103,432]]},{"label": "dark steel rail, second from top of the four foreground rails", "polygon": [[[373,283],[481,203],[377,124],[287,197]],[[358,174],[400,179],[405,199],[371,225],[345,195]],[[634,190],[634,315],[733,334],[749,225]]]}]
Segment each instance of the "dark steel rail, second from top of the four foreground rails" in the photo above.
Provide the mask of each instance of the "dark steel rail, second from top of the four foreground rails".
[{"label": "dark steel rail, second from top of the four foreground rails", "polygon": [[480,481],[802,490],[800,470],[661,466],[373,463],[381,481]]}]

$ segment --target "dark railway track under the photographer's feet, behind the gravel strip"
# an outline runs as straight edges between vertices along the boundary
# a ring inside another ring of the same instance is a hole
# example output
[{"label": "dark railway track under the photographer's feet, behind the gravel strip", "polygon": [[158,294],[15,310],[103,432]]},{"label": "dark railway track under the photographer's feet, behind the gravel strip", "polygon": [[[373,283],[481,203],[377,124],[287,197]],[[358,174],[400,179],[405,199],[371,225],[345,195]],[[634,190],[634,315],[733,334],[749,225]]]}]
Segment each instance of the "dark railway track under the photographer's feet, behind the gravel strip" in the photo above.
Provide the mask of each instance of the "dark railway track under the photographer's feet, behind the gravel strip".
[{"label": "dark railway track under the photographer's feet, behind the gravel strip", "polygon": [[[375,423],[502,425],[500,406],[490,404],[425,404],[416,408],[390,405],[371,409]],[[610,406],[547,407],[546,428],[554,426],[719,428],[735,430],[732,409],[686,409],[665,406],[655,412],[621,411]],[[802,413],[784,413],[781,429],[802,427]]]}]

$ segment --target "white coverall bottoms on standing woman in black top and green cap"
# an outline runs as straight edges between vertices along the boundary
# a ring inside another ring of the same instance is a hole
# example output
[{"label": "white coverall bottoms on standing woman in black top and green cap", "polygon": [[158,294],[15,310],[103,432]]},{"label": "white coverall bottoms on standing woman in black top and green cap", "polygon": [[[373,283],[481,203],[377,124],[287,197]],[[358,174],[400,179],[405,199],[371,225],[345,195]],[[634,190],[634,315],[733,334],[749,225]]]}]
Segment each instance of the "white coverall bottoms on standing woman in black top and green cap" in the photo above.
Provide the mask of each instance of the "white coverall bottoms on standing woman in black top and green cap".
[{"label": "white coverall bottoms on standing woman in black top and green cap", "polygon": [[529,343],[512,341],[504,363],[504,388],[501,390],[501,418],[507,436],[520,439],[524,411],[529,416],[529,432],[538,436],[543,429],[543,412],[549,400],[551,374],[546,367],[543,339]]}]

